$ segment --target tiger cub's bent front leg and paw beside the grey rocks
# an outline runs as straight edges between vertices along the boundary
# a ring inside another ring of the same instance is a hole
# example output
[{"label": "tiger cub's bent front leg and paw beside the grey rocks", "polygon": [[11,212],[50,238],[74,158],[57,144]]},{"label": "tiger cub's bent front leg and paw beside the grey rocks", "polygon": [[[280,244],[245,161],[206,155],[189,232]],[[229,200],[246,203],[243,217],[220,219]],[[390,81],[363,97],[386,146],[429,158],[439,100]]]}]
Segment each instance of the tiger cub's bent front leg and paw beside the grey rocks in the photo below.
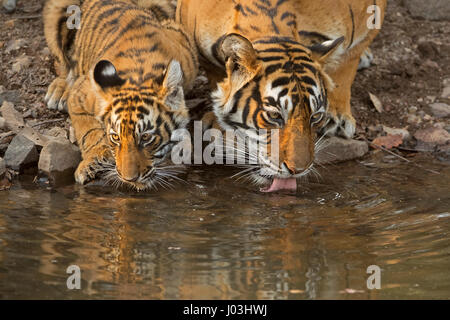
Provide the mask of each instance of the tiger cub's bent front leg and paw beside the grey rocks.
[{"label": "tiger cub's bent front leg and paw beside the grey rocks", "polygon": [[83,160],[75,171],[75,180],[86,184],[114,163],[104,125],[95,114],[96,97],[87,79],[79,79],[68,99],[69,115]]}]

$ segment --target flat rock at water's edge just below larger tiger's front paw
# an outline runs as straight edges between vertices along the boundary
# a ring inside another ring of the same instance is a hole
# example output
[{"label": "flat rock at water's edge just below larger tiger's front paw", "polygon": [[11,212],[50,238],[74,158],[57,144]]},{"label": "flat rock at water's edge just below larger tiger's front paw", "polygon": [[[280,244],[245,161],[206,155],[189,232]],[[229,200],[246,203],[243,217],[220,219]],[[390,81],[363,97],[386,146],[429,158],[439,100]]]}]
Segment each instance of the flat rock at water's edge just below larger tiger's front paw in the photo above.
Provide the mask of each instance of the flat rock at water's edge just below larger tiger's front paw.
[{"label": "flat rock at water's edge just below larger tiger's front paw", "polygon": [[317,155],[318,163],[353,160],[369,152],[369,145],[364,141],[332,137],[324,143],[325,147]]}]

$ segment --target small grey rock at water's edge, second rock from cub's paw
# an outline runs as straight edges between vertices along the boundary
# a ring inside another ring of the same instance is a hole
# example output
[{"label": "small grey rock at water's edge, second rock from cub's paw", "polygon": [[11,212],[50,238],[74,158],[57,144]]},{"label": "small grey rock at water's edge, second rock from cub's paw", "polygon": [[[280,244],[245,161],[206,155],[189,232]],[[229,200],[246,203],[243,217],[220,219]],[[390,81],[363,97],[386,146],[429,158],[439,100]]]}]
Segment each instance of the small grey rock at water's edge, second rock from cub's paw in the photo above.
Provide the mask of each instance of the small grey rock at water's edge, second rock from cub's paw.
[{"label": "small grey rock at water's edge, second rock from cub's paw", "polygon": [[27,166],[35,164],[38,159],[39,154],[33,141],[19,134],[11,141],[4,160],[7,167],[15,171],[22,171]]}]

